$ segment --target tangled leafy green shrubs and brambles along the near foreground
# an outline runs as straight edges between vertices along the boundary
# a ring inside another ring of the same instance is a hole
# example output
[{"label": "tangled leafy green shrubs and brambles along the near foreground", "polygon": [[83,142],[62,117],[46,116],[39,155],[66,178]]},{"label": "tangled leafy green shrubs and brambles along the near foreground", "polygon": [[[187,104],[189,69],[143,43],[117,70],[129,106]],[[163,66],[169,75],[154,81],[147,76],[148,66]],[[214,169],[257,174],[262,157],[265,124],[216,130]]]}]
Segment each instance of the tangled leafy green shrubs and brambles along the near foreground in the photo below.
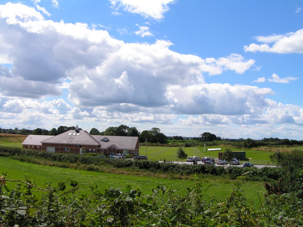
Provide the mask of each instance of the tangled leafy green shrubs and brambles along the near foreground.
[{"label": "tangled leafy green shrubs and brambles along the near foreground", "polygon": [[[45,188],[25,181],[0,177],[0,226],[302,226],[303,174],[301,190],[265,197],[260,208],[251,205],[241,189],[241,178],[225,200],[212,197],[205,202],[208,186],[194,179],[186,196],[177,190],[158,186],[143,195],[138,188],[124,190],[90,186],[80,195],[76,181]],[[17,181],[15,189],[8,183]]]}]

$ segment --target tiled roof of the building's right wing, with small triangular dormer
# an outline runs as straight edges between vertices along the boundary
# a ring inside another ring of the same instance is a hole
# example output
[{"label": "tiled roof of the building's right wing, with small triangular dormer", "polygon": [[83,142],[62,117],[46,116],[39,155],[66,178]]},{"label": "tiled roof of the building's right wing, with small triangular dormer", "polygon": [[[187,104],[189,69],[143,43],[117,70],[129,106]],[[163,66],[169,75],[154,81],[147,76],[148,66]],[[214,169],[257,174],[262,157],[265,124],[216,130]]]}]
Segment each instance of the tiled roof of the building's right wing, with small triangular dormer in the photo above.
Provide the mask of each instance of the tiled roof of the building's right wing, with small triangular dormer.
[{"label": "tiled roof of the building's right wing, with small triangular dormer", "polygon": [[[111,145],[118,147],[121,150],[135,150],[138,137],[121,137],[121,136],[99,136],[92,135],[99,143],[100,148],[107,148]],[[107,138],[109,141],[104,142],[102,139]]]}]

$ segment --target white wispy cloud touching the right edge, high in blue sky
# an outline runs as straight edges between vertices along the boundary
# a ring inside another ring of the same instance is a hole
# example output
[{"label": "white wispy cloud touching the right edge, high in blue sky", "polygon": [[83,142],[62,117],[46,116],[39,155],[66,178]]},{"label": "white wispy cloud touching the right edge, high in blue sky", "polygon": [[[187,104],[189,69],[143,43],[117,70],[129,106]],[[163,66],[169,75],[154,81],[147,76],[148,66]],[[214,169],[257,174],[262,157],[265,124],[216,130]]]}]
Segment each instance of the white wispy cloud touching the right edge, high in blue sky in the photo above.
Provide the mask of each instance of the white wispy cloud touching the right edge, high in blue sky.
[{"label": "white wispy cloud touching the right edge, high in blue sky", "polygon": [[[244,46],[245,52],[303,53],[303,29],[285,35],[258,36],[256,39],[265,44],[249,44]],[[268,43],[273,44],[270,46]]]}]

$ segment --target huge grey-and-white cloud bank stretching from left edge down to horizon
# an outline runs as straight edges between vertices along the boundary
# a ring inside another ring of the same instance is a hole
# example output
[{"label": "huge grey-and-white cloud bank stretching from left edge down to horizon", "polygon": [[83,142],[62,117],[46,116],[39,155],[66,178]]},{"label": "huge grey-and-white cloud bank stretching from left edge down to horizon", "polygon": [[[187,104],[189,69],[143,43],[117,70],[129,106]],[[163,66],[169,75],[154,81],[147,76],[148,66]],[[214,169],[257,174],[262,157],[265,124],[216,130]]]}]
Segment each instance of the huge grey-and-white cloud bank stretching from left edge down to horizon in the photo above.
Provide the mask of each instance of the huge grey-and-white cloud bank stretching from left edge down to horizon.
[{"label": "huge grey-and-white cloud bank stretching from left edge down to horizon", "polygon": [[[249,124],[302,121],[302,108],[266,99],[274,94],[270,88],[205,83],[204,74],[243,74],[253,59],[240,54],[202,59],[172,51],[171,45],[125,43],[87,24],[45,20],[25,5],[0,5],[0,59],[12,64],[0,67],[0,125],[13,121],[51,129],[62,122],[86,127],[98,122],[146,130],[162,124],[171,131],[169,124],[180,132],[193,125],[199,135],[204,125],[243,130]],[[180,114],[184,117],[174,126]]]}]

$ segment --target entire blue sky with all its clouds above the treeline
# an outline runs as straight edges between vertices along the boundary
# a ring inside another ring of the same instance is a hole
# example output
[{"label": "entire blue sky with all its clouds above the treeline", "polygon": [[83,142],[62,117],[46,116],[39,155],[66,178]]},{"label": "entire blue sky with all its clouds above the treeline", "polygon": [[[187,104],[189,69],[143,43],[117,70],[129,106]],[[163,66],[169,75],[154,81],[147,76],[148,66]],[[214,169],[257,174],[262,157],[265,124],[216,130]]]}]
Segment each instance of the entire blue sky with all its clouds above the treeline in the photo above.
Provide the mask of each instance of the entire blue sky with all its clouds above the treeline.
[{"label": "entire blue sky with all its clouds above the treeline", "polygon": [[0,0],[0,127],[303,140],[303,2]]}]

